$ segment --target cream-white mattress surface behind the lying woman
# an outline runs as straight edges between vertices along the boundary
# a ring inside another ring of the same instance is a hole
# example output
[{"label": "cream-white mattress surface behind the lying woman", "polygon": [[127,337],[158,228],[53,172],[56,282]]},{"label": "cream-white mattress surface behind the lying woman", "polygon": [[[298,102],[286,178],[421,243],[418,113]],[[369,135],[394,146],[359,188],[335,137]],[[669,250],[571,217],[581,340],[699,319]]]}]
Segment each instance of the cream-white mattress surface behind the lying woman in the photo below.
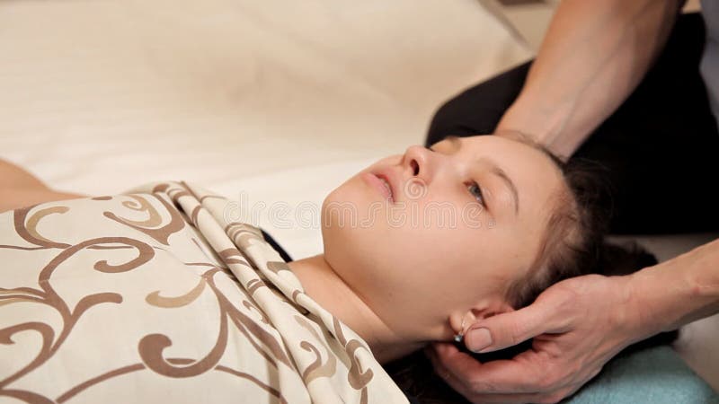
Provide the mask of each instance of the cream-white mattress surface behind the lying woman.
[{"label": "cream-white mattress surface behind the lying woman", "polygon": [[[531,57],[512,32],[475,0],[4,1],[0,157],[90,195],[191,180],[245,198],[303,258],[322,242],[297,207]],[[700,345],[683,355],[706,362]]]}]

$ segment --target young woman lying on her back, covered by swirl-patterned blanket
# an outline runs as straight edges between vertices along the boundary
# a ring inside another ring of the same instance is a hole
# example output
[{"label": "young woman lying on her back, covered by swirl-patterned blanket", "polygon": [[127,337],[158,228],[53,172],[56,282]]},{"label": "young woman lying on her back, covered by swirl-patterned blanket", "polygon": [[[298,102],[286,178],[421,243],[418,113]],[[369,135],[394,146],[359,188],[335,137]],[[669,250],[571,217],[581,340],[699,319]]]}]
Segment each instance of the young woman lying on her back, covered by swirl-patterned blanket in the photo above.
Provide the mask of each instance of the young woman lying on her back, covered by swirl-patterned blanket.
[{"label": "young woman lying on her back, covered by swirl-patterned blanket", "polygon": [[374,163],[324,199],[324,253],[288,263],[194,184],[83,198],[2,170],[0,396],[25,402],[406,402],[381,364],[602,245],[586,172],[519,137]]}]

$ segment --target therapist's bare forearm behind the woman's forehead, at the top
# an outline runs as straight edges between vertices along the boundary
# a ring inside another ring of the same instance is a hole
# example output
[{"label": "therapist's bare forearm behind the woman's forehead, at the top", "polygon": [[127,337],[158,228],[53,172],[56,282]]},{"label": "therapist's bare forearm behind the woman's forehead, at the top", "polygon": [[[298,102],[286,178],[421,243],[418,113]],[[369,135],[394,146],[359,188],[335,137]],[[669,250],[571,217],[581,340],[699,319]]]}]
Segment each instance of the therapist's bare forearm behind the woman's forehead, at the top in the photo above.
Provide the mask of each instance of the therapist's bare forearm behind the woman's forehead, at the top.
[{"label": "therapist's bare forearm behind the woman's forehead, at the top", "polygon": [[568,158],[626,100],[664,47],[684,0],[564,0],[495,133]]}]

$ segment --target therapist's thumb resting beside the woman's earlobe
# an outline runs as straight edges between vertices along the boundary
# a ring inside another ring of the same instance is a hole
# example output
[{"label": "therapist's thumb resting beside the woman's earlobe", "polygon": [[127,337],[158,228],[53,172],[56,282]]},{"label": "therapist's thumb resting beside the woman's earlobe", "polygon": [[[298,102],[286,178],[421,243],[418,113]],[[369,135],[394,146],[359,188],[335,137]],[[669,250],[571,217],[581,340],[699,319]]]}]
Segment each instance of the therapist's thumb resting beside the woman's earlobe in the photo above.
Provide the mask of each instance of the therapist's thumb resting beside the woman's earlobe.
[{"label": "therapist's thumb resting beside the woman's earlobe", "polygon": [[476,353],[515,346],[546,332],[546,321],[531,305],[476,321],[466,332],[465,345]]}]

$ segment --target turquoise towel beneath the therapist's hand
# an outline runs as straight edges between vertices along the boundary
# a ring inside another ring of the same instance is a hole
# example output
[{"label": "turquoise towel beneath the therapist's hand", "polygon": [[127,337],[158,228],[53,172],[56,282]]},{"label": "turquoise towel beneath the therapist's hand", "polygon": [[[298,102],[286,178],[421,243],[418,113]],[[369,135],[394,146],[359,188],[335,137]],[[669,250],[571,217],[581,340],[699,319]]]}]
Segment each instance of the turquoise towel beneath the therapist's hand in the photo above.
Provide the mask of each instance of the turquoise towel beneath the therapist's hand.
[{"label": "turquoise towel beneath the therapist's hand", "polygon": [[719,404],[719,395],[668,346],[618,357],[568,404]]}]

